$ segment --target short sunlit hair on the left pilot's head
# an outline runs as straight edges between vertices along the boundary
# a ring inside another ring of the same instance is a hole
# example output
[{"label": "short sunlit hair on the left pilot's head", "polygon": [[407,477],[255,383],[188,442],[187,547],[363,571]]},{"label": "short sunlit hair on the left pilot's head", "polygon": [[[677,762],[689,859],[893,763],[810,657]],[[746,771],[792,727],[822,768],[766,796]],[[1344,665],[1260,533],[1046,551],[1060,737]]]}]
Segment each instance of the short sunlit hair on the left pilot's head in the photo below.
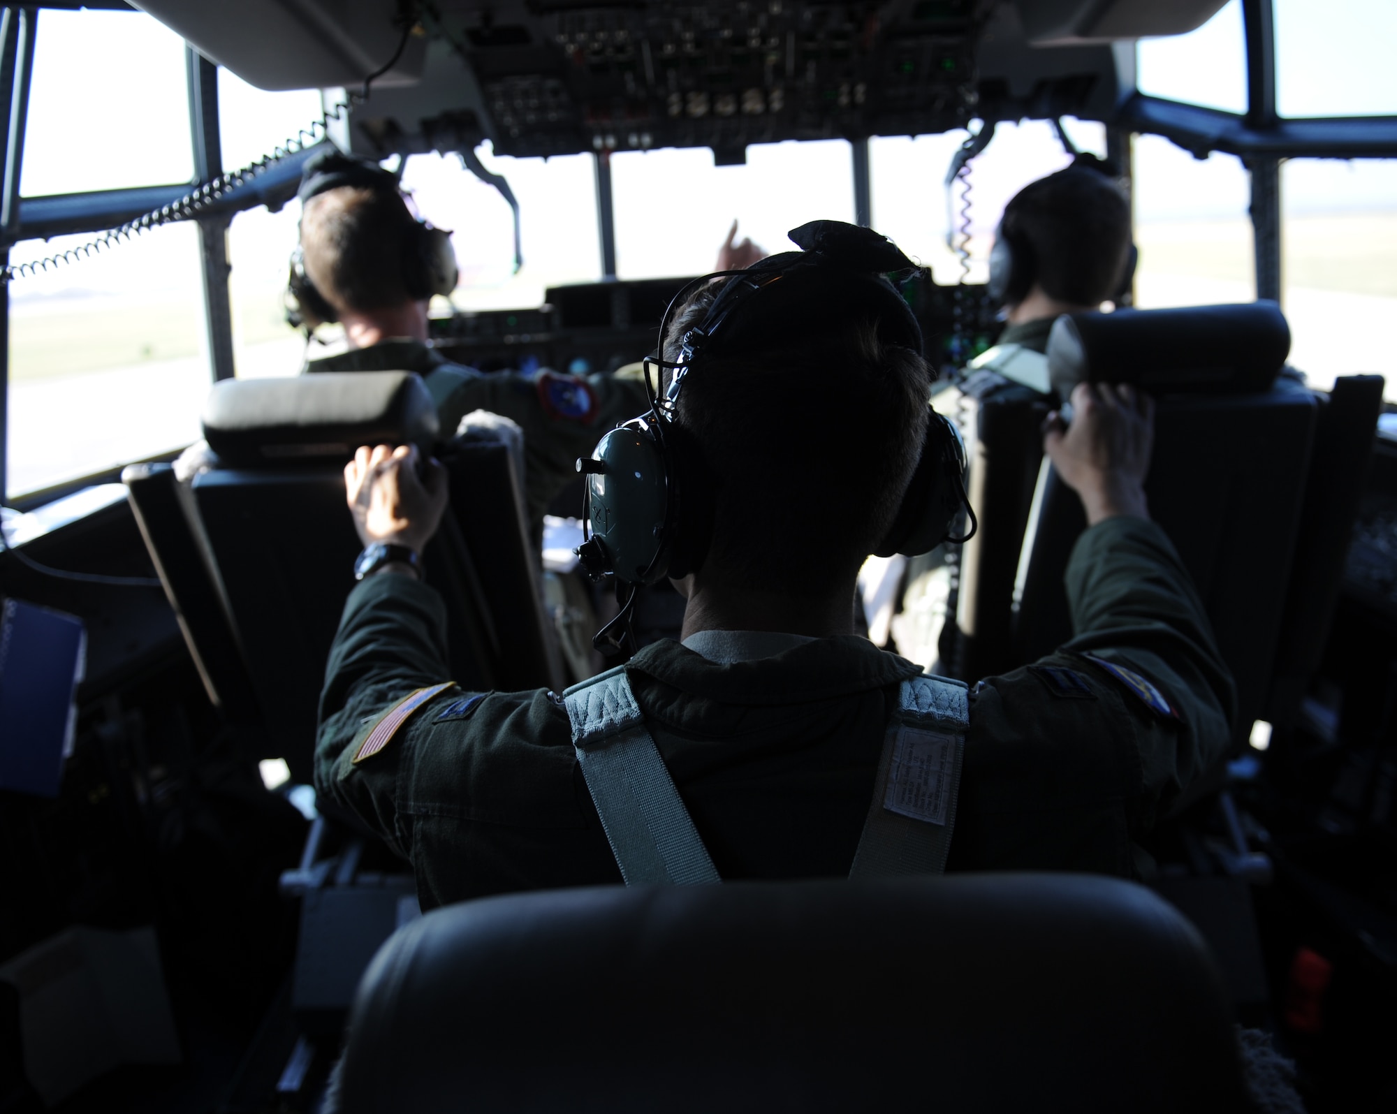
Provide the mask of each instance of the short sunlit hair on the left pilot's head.
[{"label": "short sunlit hair on the left pilot's head", "polygon": [[411,302],[402,260],[412,214],[395,193],[341,186],[306,201],[300,251],[306,276],[339,313]]}]

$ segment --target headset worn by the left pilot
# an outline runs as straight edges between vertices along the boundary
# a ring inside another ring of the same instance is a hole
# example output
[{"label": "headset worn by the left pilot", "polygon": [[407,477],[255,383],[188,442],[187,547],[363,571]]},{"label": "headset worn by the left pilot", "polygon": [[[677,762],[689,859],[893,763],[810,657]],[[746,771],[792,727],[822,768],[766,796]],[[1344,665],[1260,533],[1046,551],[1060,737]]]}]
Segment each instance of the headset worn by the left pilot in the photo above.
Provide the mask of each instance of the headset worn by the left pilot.
[{"label": "headset worn by the left pilot", "polygon": [[[341,186],[377,190],[402,198],[398,179],[391,170],[334,148],[306,159],[296,195],[305,204]],[[450,295],[460,276],[455,251],[451,248],[451,233],[414,216],[407,202],[402,205],[402,219],[408,230],[402,246],[402,286],[408,297],[414,302],[426,302],[433,295]],[[339,313],[306,274],[298,236],[296,250],[291,254],[291,275],[286,279],[286,322],[292,328],[306,329],[309,335],[317,325],[338,320]]]}]

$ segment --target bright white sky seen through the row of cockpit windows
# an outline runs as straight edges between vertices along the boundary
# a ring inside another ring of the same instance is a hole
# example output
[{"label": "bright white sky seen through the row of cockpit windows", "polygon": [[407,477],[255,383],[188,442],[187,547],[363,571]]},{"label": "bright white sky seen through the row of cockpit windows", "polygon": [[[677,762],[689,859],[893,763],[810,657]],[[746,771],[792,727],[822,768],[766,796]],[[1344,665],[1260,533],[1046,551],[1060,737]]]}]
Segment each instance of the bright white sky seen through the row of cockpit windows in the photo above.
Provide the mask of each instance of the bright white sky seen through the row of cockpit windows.
[{"label": "bright white sky seen through the row of cockpit windows", "polygon": [[[1391,0],[1275,0],[1281,107],[1291,113],[1397,112],[1397,67],[1383,52],[1397,42]],[[183,43],[145,15],[116,11],[43,11],[35,54],[22,188],[27,195],[187,180]],[[1386,45],[1386,46],[1384,46]],[[1333,63],[1343,57],[1344,81]],[[133,66],[131,60],[140,64]],[[1140,88],[1160,96],[1241,110],[1245,67],[1239,0],[1231,0],[1192,35],[1143,40]],[[219,74],[225,166],[244,163],[282,142],[319,113],[314,91],[267,94]],[[1098,124],[1069,120],[1077,144],[1101,151]],[[179,142],[172,141],[177,135]],[[873,223],[909,254],[933,264],[942,281],[958,274],[944,248],[944,168],[964,133],[872,144]],[[513,274],[509,208],[454,158],[419,156],[405,183],[419,211],[454,229],[462,264],[458,304],[521,306],[556,282],[601,272],[591,158],[482,158],[509,177],[524,211],[525,267]],[[1066,162],[1044,121],[1000,126],[972,169],[971,221],[977,251],[999,211],[1027,181]],[[1136,142],[1136,218],[1238,218],[1248,177],[1225,155],[1207,161],[1157,137]],[[819,216],[852,219],[848,144],[775,144],[749,149],[746,166],[715,168],[707,149],[627,152],[612,163],[616,254],[622,276],[692,274],[711,265],[733,219],[740,235],[768,250],[789,244],[785,232]],[[1386,209],[1397,204],[1397,161],[1295,162],[1287,168],[1287,209],[1294,214]],[[675,219],[676,214],[682,215]],[[296,207],[237,218],[232,233],[237,290],[279,283],[295,242]],[[84,264],[17,283],[14,295],[63,289],[187,288],[193,255],[179,237],[145,250],[122,248],[124,261]],[[17,255],[36,251],[22,244]],[[974,276],[978,278],[981,261]]]}]

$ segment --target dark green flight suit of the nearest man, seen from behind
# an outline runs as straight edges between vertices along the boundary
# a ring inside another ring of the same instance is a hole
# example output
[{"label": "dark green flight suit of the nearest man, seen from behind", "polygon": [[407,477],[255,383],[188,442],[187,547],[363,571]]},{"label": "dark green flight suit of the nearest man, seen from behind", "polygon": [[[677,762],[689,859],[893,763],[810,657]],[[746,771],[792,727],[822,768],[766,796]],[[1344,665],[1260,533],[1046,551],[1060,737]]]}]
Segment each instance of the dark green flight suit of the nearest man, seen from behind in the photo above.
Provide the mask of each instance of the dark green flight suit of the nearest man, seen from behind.
[{"label": "dark green flight suit of the nearest man, seen from behind", "polygon": [[[1232,681],[1157,525],[1113,518],[1088,529],[1067,591],[1077,634],[1037,663],[1048,669],[972,690],[950,870],[1132,877],[1133,842],[1228,750]],[[1153,681],[1172,715],[1084,653]],[[423,909],[620,882],[553,692],[448,690],[353,764],[379,720],[446,681],[446,667],[433,589],[393,574],[353,589],[321,695],[324,807],[411,860]],[[665,639],[627,666],[724,878],[848,874],[898,684],[918,671],[854,635],[731,664]]]}]

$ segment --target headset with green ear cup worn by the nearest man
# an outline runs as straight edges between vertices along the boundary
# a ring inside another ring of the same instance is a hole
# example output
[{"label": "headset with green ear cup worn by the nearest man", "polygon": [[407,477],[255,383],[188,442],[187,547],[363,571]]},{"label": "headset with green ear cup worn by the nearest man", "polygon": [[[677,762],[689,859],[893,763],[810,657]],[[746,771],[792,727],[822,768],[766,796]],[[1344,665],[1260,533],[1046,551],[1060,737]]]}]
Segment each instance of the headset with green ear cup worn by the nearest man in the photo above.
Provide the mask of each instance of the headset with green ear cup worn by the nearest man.
[{"label": "headset with green ear cup worn by the nearest man", "polygon": [[[922,355],[922,329],[887,274],[907,274],[915,264],[872,229],[840,221],[813,221],[789,233],[800,251],[771,255],[745,271],[718,271],[687,283],[671,300],[659,325],[654,356],[644,362],[650,412],[610,430],[577,470],[585,476],[583,510],[587,530],[577,550],[592,579],[615,578],[630,585],[620,614],[592,644],[604,653],[620,652],[629,634],[636,591],[664,577],[697,572],[712,530],[712,483],[693,436],[675,420],[679,395],[690,374],[703,374],[708,359],[768,342],[781,331],[809,331],[831,313],[866,309],[883,339]],[[679,341],[676,360],[664,359],[665,338],[676,307],[715,279],[726,279],[701,322]],[[671,373],[661,398],[651,366]],[[953,536],[961,512],[971,529]],[[901,507],[876,553],[918,554],[942,542],[965,542],[975,532],[975,514],[965,494],[965,445],[944,416],[930,410],[926,437]]]}]

